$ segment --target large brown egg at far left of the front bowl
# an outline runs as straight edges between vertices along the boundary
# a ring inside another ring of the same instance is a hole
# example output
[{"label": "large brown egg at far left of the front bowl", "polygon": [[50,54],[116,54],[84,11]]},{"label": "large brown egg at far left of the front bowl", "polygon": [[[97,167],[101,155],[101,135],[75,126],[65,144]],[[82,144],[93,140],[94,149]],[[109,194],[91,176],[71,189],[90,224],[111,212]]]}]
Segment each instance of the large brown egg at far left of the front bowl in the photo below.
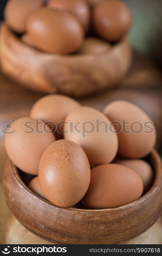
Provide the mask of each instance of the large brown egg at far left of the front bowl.
[{"label": "large brown egg at far left of the front bowl", "polygon": [[9,158],[23,172],[38,175],[41,156],[47,146],[56,140],[43,121],[22,117],[11,124],[5,135]]}]

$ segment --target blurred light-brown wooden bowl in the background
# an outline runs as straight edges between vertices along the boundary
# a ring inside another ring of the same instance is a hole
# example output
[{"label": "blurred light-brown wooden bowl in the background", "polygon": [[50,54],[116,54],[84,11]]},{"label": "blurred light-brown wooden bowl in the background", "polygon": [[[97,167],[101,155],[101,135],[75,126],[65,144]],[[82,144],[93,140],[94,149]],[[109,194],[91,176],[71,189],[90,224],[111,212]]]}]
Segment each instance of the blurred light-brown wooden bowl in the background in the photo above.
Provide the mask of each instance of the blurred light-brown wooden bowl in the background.
[{"label": "blurred light-brown wooden bowl in the background", "polygon": [[5,24],[1,28],[0,55],[2,71],[23,86],[74,97],[113,87],[132,59],[127,38],[103,54],[54,55],[25,45]]}]

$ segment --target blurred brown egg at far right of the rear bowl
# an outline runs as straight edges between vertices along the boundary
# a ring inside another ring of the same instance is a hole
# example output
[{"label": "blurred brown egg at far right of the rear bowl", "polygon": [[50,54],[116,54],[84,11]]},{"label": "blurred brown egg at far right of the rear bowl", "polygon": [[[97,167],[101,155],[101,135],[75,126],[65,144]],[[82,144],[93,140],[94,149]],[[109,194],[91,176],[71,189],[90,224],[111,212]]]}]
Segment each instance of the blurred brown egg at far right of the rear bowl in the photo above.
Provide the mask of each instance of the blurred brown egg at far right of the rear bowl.
[{"label": "blurred brown egg at far right of the rear bowl", "polygon": [[105,40],[120,40],[129,31],[131,24],[131,12],[121,1],[104,1],[93,10],[94,30]]}]

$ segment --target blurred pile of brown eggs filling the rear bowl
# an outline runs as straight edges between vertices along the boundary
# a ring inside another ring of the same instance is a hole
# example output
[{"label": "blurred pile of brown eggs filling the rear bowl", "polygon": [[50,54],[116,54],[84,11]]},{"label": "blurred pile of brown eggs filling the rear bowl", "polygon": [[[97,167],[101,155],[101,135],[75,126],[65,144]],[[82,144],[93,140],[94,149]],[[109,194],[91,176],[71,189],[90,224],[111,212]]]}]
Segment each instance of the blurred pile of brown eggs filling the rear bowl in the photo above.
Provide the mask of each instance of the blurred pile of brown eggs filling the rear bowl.
[{"label": "blurred pile of brown eggs filling the rear bowl", "polygon": [[5,23],[43,52],[90,54],[110,50],[132,16],[120,0],[9,0]]}]

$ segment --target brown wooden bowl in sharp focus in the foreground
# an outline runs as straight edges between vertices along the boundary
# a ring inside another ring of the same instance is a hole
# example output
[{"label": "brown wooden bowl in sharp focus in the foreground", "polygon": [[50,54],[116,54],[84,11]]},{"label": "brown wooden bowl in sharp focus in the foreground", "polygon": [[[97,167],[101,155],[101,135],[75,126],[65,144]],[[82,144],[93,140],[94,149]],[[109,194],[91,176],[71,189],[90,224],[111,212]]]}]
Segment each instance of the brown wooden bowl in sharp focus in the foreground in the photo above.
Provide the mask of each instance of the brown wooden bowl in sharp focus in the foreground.
[{"label": "brown wooden bowl in sharp focus in the foreground", "polygon": [[23,226],[50,242],[122,243],[146,231],[161,215],[161,160],[155,151],[148,159],[155,173],[152,187],[139,200],[115,209],[87,210],[52,205],[25,185],[19,175],[22,172],[18,172],[11,161],[7,162],[4,175],[5,198]]}]

